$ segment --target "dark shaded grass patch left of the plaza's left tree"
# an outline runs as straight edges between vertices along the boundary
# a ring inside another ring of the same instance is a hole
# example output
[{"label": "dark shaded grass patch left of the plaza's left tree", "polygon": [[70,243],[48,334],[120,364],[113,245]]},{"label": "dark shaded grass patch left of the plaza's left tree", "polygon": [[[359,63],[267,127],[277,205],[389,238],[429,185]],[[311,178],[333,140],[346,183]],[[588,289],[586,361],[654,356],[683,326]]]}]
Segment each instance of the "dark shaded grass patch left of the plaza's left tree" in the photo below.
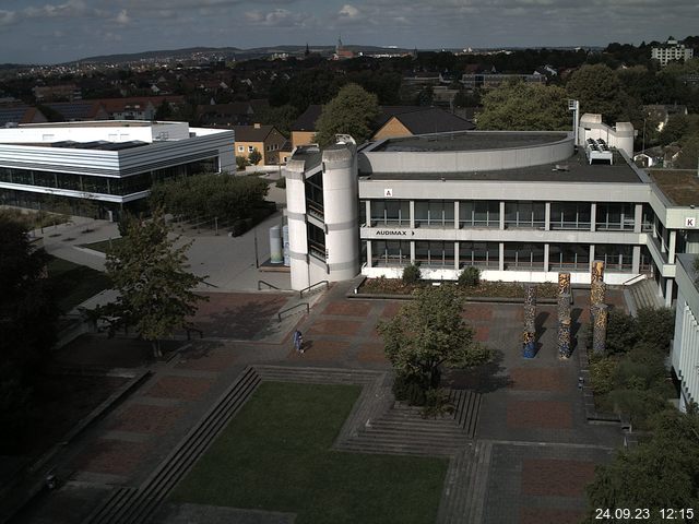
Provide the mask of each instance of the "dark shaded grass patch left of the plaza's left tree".
[{"label": "dark shaded grass patch left of the plaza's left tree", "polygon": [[48,278],[59,307],[66,312],[109,288],[109,278],[104,273],[55,257],[48,263]]}]

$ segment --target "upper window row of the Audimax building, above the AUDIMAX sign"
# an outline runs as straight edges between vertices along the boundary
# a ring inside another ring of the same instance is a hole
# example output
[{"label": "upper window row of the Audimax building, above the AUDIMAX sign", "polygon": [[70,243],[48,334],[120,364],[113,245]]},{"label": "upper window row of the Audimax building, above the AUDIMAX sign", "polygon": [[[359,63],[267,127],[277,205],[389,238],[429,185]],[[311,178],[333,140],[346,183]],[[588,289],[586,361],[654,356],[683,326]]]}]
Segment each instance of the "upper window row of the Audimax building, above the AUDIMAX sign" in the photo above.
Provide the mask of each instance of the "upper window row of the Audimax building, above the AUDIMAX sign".
[{"label": "upper window row of the Audimax building, above the AUDIMAX sign", "polygon": [[[362,224],[371,227],[411,225],[411,204],[407,200],[371,200],[370,217],[366,218],[366,201],[359,205]],[[501,206],[499,201],[459,201],[458,216],[453,200],[414,201],[415,227],[453,228],[455,219],[460,228],[499,228]],[[546,227],[546,204],[531,201],[505,202],[502,226],[505,228],[544,229]],[[599,203],[595,212],[597,230],[633,230],[636,222],[633,203]],[[653,211],[643,205],[641,228],[651,230]],[[590,202],[552,202],[550,229],[581,229],[592,227],[592,205]]]}]

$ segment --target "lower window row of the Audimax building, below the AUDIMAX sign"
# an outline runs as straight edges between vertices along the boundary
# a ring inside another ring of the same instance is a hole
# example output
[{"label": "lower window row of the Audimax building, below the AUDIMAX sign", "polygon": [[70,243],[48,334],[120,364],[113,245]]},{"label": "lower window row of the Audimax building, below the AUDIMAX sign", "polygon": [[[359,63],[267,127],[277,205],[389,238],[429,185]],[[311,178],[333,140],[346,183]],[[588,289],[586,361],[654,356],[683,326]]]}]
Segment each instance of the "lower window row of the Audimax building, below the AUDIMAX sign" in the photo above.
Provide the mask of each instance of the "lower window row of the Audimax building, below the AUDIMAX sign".
[{"label": "lower window row of the Audimax building, below the AUDIMAX sign", "polygon": [[[371,240],[372,266],[399,266],[411,263],[411,241]],[[453,269],[455,243],[451,241],[415,241],[415,262],[424,267]],[[498,242],[458,242],[459,267],[474,265],[497,270],[500,265]],[[502,262],[506,270],[543,270],[544,245],[505,242]],[[630,272],[633,246],[595,245],[594,258],[604,260],[608,271]],[[552,243],[548,246],[548,269],[588,271],[590,246]],[[640,270],[650,271],[651,258],[645,247],[641,248]]]}]

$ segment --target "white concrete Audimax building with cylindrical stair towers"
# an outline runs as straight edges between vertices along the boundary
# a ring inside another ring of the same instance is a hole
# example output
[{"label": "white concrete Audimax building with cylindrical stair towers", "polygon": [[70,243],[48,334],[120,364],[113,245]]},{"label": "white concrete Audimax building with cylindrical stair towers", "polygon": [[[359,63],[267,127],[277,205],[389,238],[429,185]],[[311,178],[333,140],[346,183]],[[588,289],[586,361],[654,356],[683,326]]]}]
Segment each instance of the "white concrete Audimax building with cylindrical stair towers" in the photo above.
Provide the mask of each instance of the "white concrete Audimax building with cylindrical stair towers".
[{"label": "white concrete Audimax building with cylindrical stair towers", "polygon": [[[574,134],[471,131],[297,150],[287,166],[292,286],[399,277],[411,263],[433,279],[473,265],[485,279],[556,282],[567,271],[589,284],[592,261],[604,260],[607,283],[645,274],[670,305],[675,253],[699,251],[699,210],[674,205],[629,160],[629,123],[584,115],[577,144]],[[329,189],[339,179],[344,193]]]}]

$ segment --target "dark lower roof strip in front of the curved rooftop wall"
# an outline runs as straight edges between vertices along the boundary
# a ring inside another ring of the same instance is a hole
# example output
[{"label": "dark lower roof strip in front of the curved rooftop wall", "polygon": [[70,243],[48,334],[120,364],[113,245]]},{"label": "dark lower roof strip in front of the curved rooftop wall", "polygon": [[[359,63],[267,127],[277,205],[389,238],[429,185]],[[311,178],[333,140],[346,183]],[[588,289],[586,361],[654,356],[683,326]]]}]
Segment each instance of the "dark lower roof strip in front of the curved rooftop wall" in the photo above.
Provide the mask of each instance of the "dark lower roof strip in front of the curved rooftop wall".
[{"label": "dark lower roof strip in front of the curved rooftop wall", "polygon": [[369,180],[501,180],[508,182],[644,183],[618,152],[614,164],[590,165],[582,150],[564,162],[516,169],[459,172],[359,172]]}]

